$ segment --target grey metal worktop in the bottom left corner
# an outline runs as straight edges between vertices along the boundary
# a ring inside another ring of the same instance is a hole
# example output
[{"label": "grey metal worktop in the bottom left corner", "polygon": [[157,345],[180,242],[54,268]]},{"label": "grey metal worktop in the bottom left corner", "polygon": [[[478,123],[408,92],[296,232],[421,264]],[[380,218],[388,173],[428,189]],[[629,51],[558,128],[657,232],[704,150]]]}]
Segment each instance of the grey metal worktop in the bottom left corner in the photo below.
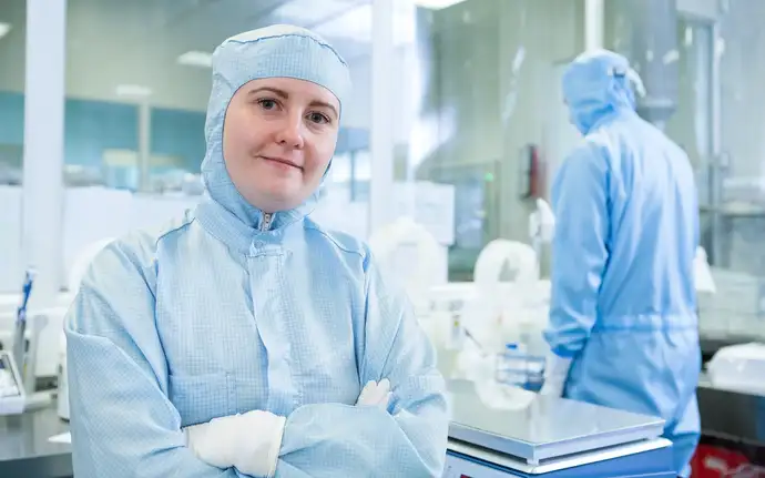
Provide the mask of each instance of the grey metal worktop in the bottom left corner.
[{"label": "grey metal worktop in the bottom left corner", "polygon": [[55,407],[0,416],[0,477],[71,478],[71,447],[49,441],[67,431]]}]

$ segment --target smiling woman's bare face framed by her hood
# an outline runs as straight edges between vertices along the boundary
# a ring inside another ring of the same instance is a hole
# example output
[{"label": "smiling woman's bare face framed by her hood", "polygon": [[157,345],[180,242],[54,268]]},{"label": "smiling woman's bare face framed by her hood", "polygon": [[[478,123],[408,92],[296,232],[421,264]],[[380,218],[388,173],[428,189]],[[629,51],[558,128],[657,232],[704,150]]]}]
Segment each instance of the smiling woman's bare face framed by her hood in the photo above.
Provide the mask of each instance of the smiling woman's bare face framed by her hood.
[{"label": "smiling woman's bare face framed by her hood", "polygon": [[253,80],[234,94],[223,157],[234,186],[265,213],[297,207],[319,186],[335,153],[340,105],[305,80]]}]

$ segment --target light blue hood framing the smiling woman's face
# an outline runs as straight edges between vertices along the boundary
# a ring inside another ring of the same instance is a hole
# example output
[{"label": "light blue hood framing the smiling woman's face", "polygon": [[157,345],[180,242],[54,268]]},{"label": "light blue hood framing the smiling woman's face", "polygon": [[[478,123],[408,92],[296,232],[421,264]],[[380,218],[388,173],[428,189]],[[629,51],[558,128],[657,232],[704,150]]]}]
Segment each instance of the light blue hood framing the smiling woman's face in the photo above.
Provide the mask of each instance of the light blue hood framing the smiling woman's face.
[{"label": "light blue hood framing the smiling woman's face", "polygon": [[[249,81],[264,78],[314,82],[333,92],[340,108],[350,92],[348,65],[343,58],[320,37],[298,27],[272,26],[252,30],[225,40],[215,49],[202,176],[210,197],[249,227],[258,226],[263,213],[239,194],[228,175],[223,160],[223,122],[234,93]],[[275,221],[283,223],[307,215],[318,193],[317,189],[293,211],[277,213]]]}]

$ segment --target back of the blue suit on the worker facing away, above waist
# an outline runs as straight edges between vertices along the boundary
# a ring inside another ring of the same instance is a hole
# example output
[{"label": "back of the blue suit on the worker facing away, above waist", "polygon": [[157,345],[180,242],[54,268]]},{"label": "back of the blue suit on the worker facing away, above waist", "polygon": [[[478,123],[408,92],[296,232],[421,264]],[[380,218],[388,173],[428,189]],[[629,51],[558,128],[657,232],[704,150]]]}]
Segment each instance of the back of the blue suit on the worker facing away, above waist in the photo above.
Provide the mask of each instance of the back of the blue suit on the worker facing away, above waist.
[{"label": "back of the blue suit on the worker facing away, above waist", "polygon": [[609,162],[609,261],[595,327],[695,324],[698,206],[686,154],[636,114],[605,122],[588,141]]}]

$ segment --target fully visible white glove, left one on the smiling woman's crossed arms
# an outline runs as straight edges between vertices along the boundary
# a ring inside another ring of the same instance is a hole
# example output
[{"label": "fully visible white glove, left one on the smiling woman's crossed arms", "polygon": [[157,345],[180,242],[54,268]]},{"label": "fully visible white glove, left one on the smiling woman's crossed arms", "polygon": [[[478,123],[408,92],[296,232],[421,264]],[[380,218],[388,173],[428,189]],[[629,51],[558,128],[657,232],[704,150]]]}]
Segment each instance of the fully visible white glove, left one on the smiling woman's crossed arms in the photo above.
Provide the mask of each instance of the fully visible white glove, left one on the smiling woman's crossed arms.
[{"label": "fully visible white glove, left one on the smiling woman's crossed arms", "polygon": [[262,410],[214,418],[184,429],[186,447],[214,467],[236,467],[244,475],[271,478],[285,423],[285,417]]}]

